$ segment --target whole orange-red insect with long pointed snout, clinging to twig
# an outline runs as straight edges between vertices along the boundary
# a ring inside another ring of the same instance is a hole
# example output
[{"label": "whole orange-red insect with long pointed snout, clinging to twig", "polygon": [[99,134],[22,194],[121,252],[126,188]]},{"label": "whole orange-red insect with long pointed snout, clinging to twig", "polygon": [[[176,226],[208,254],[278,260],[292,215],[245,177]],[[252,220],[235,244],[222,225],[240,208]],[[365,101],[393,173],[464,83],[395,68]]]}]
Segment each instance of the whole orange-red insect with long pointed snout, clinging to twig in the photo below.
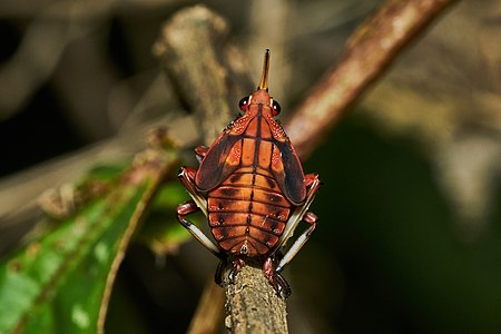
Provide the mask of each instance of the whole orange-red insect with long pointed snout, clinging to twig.
[{"label": "whole orange-red insect with long pointed snout, clinging to twig", "polygon": [[[210,147],[195,149],[198,169],[181,167],[179,179],[191,196],[180,204],[177,217],[222,262],[228,258],[230,282],[249,257],[263,259],[263,273],[275,289],[291,294],[281,275],[316,227],[308,207],[320,187],[318,175],[304,175],[301,161],[282,126],[274,119],[281,106],[268,94],[271,52],[267,49],[257,90],[239,101],[243,114]],[[186,216],[202,210],[208,217],[207,237]],[[282,256],[281,250],[299,222],[310,226]]]}]

